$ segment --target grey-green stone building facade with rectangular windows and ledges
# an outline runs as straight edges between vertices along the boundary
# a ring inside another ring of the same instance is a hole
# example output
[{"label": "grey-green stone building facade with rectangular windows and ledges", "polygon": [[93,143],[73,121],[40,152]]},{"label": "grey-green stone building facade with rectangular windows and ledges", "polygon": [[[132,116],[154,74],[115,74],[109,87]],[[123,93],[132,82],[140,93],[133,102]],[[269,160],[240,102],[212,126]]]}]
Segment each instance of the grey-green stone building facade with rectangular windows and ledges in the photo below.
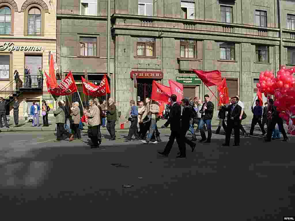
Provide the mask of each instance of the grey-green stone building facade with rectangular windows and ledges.
[{"label": "grey-green stone building facade with rectangular windows and ledges", "polygon": [[[84,9],[93,1],[74,2],[60,0],[58,4],[62,70],[83,74],[87,68],[94,75],[105,73],[107,1],[94,0],[97,13],[94,10],[92,15],[85,15]],[[251,116],[259,73],[295,65],[292,0],[115,0],[111,16],[111,96],[122,113],[130,99],[150,96],[153,80],[164,85],[169,79],[184,83],[185,97],[211,96],[191,72],[199,69],[220,70],[230,96],[240,95]],[[99,36],[95,56],[79,56],[82,34]],[[137,89],[132,73],[138,76]],[[210,89],[217,95],[217,88]],[[212,101],[216,106],[214,97]]]}]

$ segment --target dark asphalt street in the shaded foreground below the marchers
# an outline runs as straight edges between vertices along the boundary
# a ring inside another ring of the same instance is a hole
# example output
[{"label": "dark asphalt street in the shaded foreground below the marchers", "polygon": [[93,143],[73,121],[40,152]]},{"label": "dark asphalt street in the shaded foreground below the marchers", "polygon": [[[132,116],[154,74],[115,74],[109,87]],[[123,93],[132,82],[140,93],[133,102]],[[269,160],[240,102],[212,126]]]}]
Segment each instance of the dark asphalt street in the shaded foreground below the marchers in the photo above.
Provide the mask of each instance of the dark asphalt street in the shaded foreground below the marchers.
[{"label": "dark asphalt street in the shaded foreground below the marchers", "polygon": [[83,141],[72,142],[54,142],[54,131],[0,133],[1,209],[19,205],[72,215],[87,208],[94,219],[107,220],[294,216],[294,137],[265,143],[255,131],[241,137],[240,147],[222,147],[224,135],[213,134],[211,144],[197,142],[193,153],[187,146],[187,159],[176,159],[176,142],[168,158],[157,154],[170,134],[160,132],[163,142],[141,144],[124,142],[128,130],[117,130],[116,141],[103,131],[98,149],[87,144],[86,131]]}]

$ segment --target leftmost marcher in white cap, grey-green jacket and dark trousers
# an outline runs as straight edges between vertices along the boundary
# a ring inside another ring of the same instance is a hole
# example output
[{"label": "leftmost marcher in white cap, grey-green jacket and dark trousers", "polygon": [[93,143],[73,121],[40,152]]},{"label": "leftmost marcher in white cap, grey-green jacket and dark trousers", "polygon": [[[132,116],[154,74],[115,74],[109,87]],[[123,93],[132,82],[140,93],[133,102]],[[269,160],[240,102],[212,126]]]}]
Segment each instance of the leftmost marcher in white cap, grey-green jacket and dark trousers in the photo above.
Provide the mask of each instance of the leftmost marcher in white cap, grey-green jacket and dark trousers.
[{"label": "leftmost marcher in white cap, grey-green jacket and dark trousers", "polygon": [[63,103],[58,101],[58,108],[57,110],[53,111],[55,116],[55,123],[56,123],[56,140],[61,141],[63,140],[63,135],[69,138],[69,141],[72,141],[72,134],[70,134],[64,127],[65,123],[65,111],[63,108]]}]

